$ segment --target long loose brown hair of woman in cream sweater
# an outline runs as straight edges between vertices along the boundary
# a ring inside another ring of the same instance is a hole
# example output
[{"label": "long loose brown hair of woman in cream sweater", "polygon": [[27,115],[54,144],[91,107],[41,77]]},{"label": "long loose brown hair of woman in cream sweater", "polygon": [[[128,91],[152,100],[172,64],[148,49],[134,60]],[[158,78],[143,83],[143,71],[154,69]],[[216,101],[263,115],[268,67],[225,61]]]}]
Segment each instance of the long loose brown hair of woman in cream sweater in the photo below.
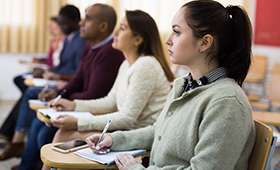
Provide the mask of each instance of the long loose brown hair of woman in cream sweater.
[{"label": "long loose brown hair of woman in cream sweater", "polygon": [[159,31],[154,19],[141,10],[126,11],[126,18],[133,34],[140,35],[143,38],[138,54],[154,56],[163,68],[167,79],[173,81],[174,75],[166,61]]}]

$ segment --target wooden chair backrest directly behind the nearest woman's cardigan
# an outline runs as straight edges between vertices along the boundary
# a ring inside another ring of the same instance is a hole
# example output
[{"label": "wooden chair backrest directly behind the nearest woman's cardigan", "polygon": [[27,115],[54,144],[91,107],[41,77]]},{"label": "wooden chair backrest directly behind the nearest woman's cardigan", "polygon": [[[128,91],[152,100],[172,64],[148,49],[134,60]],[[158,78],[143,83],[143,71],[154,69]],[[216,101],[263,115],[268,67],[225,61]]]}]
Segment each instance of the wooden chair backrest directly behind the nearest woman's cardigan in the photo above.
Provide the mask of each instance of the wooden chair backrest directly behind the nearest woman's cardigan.
[{"label": "wooden chair backrest directly behind the nearest woman's cardigan", "polygon": [[273,131],[269,126],[257,120],[254,122],[256,139],[249,160],[249,170],[264,170],[273,142]]}]

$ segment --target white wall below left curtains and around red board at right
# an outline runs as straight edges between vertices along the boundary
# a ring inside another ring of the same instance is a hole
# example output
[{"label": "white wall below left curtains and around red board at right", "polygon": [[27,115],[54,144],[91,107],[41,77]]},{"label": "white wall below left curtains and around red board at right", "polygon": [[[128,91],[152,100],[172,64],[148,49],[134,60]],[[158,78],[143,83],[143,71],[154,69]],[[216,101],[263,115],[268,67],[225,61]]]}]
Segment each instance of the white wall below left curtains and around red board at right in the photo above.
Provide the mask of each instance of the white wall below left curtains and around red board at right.
[{"label": "white wall below left curtains and around red board at right", "polygon": [[[256,1],[251,0],[248,13],[252,25],[254,25],[255,20],[255,6]],[[253,45],[252,52],[253,55],[268,57],[268,71],[273,67],[274,63],[280,63],[280,47]],[[0,100],[17,100],[20,97],[20,91],[14,85],[13,78],[28,71],[23,64],[19,63],[19,60],[31,60],[34,55],[38,54],[0,53]],[[269,79],[266,83],[269,83]]]}]

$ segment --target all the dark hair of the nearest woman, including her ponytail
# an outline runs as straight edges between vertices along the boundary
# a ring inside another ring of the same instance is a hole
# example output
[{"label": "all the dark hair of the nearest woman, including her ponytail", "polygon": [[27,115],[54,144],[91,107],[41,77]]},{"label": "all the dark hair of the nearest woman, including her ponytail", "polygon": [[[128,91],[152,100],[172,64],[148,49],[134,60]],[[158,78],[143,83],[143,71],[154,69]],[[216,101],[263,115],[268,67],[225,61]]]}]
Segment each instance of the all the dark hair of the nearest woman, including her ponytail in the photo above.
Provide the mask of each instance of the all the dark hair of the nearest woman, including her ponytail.
[{"label": "all the dark hair of the nearest woman, including her ponytail", "polygon": [[219,66],[227,68],[228,76],[242,86],[251,64],[252,28],[246,11],[212,0],[191,1],[182,8],[194,37],[213,36],[208,56],[217,57]]}]

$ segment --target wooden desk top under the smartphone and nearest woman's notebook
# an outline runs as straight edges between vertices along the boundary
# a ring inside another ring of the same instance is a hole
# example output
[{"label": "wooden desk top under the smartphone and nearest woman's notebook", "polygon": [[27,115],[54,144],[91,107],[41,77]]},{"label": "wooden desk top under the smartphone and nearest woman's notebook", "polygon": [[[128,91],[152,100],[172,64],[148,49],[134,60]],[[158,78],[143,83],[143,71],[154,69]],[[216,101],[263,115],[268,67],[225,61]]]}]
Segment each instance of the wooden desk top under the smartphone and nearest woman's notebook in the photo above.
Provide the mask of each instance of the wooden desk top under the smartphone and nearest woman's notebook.
[{"label": "wooden desk top under the smartphone and nearest woman's notebook", "polygon": [[[60,153],[52,149],[53,143],[46,144],[41,148],[42,161],[54,168],[70,168],[70,169],[117,169],[116,165],[103,165],[95,161],[90,161],[76,155],[74,152]],[[135,158],[137,161],[141,160],[143,156]]]}]

